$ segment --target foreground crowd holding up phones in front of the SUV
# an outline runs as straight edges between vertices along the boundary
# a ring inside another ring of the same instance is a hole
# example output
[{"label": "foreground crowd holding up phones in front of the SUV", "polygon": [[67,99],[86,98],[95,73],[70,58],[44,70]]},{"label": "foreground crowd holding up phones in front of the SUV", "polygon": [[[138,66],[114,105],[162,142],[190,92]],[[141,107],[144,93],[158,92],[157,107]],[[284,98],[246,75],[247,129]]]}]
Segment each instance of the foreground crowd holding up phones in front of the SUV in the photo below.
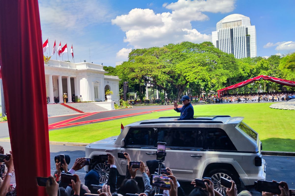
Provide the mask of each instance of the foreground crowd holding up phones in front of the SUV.
[{"label": "foreground crowd holding up phones in front of the SUV", "polygon": [[[157,160],[149,160],[146,162],[140,161],[140,168],[133,169],[132,166],[130,167],[129,162],[131,161],[130,156],[128,153],[124,153],[128,164],[126,168],[126,177],[122,181],[121,185],[117,187],[117,166],[115,164],[115,158],[111,154],[108,155],[108,166],[109,166],[109,178],[105,184],[100,184],[100,175],[99,172],[92,169],[90,170],[85,176],[85,184],[81,184],[81,180],[79,175],[75,174],[76,171],[83,168],[83,161],[85,158],[77,158],[73,167],[68,170],[68,164],[70,161],[69,156],[65,155],[64,164],[60,163],[59,156],[55,157],[55,166],[56,171],[54,176],[49,176],[49,180],[46,182],[46,192],[49,196],[82,196],[84,194],[96,194],[100,196],[129,196],[129,194],[137,194],[139,196],[154,196],[155,194],[162,194],[163,196],[185,196],[185,192],[182,189],[181,185],[177,182],[177,176],[173,175],[173,172],[168,168],[165,167],[166,173],[162,174],[163,176],[170,177],[167,183],[170,184],[171,188],[160,188],[160,193],[156,192],[156,187],[150,185],[150,175],[156,172],[158,168],[158,161]],[[8,171],[12,172],[13,163],[12,163],[12,156],[11,160],[5,161]],[[12,164],[12,166],[11,166]],[[137,171],[140,171],[142,174],[141,178],[135,178]],[[61,174],[66,173],[76,177],[76,180],[71,180],[71,184],[64,183],[61,180]],[[6,180],[6,175],[4,180]],[[10,180],[10,178],[9,178]],[[6,190],[8,189],[9,180],[2,183],[2,186],[7,186]],[[214,190],[213,182],[209,179],[202,179],[205,182],[206,188],[197,187],[195,181],[191,182],[192,191],[188,196],[222,196],[217,190]],[[239,194],[237,193],[237,186],[234,181],[231,181],[232,185],[230,188],[226,189],[226,193],[229,196],[251,196],[249,191],[242,191]],[[279,182],[280,183],[280,190],[281,194],[279,196],[289,196],[289,188],[286,182]],[[143,184],[144,186],[140,186]],[[101,185],[102,187],[98,190],[94,189],[93,185]],[[1,187],[2,188],[2,187]],[[0,189],[2,190],[2,189]],[[86,195],[87,195],[86,194]],[[273,193],[262,192],[263,196],[271,196],[274,195]],[[291,195],[290,195],[291,196]]]}]

